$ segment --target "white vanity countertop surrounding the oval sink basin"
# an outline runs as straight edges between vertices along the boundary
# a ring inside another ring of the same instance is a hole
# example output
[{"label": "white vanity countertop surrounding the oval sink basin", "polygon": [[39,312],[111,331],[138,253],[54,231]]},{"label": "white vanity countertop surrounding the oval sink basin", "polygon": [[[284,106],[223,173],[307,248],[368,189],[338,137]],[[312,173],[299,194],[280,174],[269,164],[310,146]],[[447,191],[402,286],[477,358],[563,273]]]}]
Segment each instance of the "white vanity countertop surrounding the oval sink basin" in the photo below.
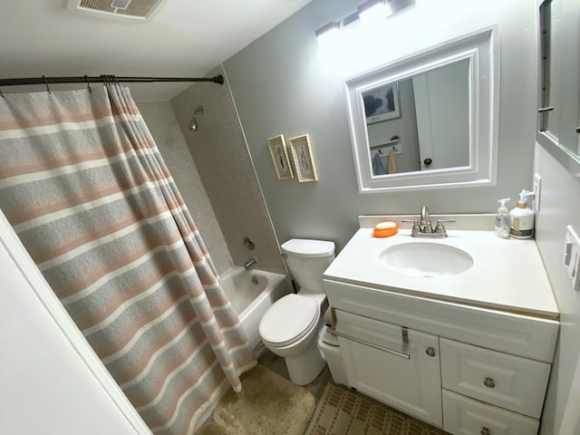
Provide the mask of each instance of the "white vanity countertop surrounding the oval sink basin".
[{"label": "white vanity countertop surrounding the oval sink basin", "polygon": [[[449,237],[443,239],[411,237],[409,228],[378,238],[372,237],[372,227],[362,227],[326,269],[324,278],[517,314],[559,317],[533,239],[499,238],[493,230],[449,229],[452,225],[447,229]],[[459,247],[472,256],[474,264],[460,275],[422,277],[392,272],[379,260],[387,247],[418,242]]]}]

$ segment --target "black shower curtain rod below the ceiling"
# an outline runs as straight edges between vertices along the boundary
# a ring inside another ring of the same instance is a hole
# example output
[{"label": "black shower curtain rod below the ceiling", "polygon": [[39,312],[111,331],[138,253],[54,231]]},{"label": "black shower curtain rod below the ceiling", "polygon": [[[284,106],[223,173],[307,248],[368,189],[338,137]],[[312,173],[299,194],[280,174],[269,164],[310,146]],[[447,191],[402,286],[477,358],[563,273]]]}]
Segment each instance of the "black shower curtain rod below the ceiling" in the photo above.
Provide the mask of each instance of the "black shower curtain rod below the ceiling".
[{"label": "black shower curtain rod below the ceiling", "polygon": [[214,82],[224,84],[224,76],[219,74],[214,77],[117,77],[114,75],[97,75],[78,77],[27,77],[18,79],[0,79],[0,87],[17,86],[22,84],[54,84],[54,83],[111,83],[111,82]]}]

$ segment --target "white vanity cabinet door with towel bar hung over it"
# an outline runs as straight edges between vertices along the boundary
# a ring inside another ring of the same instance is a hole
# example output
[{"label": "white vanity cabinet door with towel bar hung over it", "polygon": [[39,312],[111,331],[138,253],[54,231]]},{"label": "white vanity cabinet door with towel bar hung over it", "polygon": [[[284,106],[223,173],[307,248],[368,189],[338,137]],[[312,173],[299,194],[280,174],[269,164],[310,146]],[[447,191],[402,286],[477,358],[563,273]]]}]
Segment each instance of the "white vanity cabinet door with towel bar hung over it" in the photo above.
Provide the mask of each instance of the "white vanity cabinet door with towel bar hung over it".
[{"label": "white vanity cabinet door with towel bar hung over it", "polygon": [[351,386],[442,427],[439,338],[338,310],[336,314]]}]

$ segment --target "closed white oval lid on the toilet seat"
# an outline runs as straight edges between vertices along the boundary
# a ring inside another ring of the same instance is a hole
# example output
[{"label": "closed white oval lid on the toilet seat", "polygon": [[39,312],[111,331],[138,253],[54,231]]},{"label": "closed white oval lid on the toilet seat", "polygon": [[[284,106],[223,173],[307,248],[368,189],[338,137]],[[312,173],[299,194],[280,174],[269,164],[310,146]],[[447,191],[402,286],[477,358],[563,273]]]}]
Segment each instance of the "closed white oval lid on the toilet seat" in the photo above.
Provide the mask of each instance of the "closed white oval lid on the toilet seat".
[{"label": "closed white oval lid on the toilet seat", "polygon": [[285,295],[276,301],[260,322],[260,336],[268,343],[285,346],[309,333],[316,323],[318,304],[301,295]]}]

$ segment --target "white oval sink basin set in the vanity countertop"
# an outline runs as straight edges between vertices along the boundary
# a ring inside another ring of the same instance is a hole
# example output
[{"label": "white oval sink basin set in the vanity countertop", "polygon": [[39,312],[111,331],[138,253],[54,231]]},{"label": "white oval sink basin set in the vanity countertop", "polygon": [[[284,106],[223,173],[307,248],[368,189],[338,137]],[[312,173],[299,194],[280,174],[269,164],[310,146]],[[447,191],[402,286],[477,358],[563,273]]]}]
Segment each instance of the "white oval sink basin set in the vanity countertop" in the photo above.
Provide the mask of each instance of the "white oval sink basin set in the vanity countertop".
[{"label": "white oval sink basin set in the vanity countertop", "polygon": [[457,247],[439,243],[402,243],[382,251],[383,266],[402,275],[434,277],[459,275],[473,266],[473,258]]}]

